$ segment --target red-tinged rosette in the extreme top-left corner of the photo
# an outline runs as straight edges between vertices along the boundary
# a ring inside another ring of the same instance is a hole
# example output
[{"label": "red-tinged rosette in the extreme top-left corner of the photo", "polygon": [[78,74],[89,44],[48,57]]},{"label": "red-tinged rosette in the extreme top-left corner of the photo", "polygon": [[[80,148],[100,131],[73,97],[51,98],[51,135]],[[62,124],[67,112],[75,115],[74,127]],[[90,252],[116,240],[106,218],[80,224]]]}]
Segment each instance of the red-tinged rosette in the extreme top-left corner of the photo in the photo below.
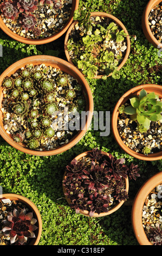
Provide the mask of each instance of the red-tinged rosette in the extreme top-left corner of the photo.
[{"label": "red-tinged rosette in the extreme top-left corner of the photo", "polygon": [[14,21],[18,17],[18,10],[11,0],[5,0],[0,4],[0,10],[3,16]]}]

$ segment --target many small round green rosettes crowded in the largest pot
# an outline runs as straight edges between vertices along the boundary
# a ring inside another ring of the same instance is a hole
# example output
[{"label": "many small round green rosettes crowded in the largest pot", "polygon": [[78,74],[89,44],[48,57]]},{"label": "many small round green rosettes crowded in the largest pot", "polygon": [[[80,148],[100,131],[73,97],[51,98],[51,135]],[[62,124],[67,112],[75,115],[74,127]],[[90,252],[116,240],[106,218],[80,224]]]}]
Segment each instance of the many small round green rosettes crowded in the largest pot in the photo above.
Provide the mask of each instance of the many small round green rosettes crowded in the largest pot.
[{"label": "many small round green rosettes crowded in the largest pot", "polygon": [[[16,76],[5,77],[2,82],[7,95],[3,98],[2,105],[4,109],[8,109],[7,113],[6,110],[3,113],[3,120],[8,127],[12,123],[11,119],[14,120],[15,130],[11,127],[9,132],[15,142],[24,143],[35,150],[42,141],[46,144],[48,138],[55,142],[54,136],[60,127],[55,128],[53,122],[57,121],[59,114],[64,113],[64,107],[69,108],[68,113],[73,113],[74,109],[79,111],[84,108],[85,101],[82,87],[76,80],[72,86],[70,79],[74,79],[70,75],[58,69],[55,70],[54,77],[49,78],[46,74],[46,68],[50,70],[49,67],[44,65],[45,68],[42,69],[29,66],[18,70]],[[56,136],[56,139],[59,138]]]}]

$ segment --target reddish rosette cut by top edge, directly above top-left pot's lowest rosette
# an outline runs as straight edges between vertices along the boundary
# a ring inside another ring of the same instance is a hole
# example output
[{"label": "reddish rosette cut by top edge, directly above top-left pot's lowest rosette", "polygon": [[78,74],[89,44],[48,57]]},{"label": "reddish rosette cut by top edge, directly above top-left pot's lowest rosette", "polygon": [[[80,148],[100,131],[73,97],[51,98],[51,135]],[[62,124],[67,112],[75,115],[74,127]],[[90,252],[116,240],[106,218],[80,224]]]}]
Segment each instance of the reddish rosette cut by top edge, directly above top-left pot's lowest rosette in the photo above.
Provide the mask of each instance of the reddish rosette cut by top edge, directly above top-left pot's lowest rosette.
[{"label": "reddish rosette cut by top edge, directly above top-left pot's lowest rosette", "polygon": [[20,13],[25,12],[25,14],[34,13],[35,10],[38,9],[37,7],[38,1],[36,0],[18,0],[17,1],[17,8]]}]

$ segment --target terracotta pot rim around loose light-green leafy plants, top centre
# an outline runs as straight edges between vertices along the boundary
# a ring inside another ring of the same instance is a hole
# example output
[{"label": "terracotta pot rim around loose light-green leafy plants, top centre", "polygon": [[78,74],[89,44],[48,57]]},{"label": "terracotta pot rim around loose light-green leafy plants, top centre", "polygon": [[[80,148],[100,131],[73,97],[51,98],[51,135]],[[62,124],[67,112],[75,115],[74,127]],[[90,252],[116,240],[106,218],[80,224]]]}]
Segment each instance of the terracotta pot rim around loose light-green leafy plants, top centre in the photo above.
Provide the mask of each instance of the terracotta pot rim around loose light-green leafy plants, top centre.
[{"label": "terracotta pot rim around loose light-green leafy plants, top centre", "polygon": [[[116,24],[118,24],[122,29],[124,29],[125,33],[128,35],[126,37],[127,39],[127,50],[126,50],[126,54],[125,54],[125,57],[124,59],[122,60],[121,64],[118,66],[118,69],[117,70],[120,70],[122,68],[122,66],[126,63],[126,60],[128,59],[128,56],[129,56],[129,52],[130,52],[130,48],[131,48],[131,42],[130,42],[130,39],[129,39],[129,34],[127,32],[127,29],[126,27],[122,24],[122,22],[120,20],[118,20],[115,16],[111,15],[111,14],[107,14],[107,13],[102,13],[102,12],[95,12],[95,13],[91,13],[90,16],[102,16],[102,17],[107,17],[109,19],[112,19]],[[70,32],[72,31],[73,27],[75,26],[75,24],[77,23],[77,21],[74,21],[72,23],[72,25],[70,25],[70,27],[68,28],[68,31],[66,33],[66,37],[65,37],[65,40],[64,40],[64,52],[66,54],[66,57],[67,57],[67,60],[69,63],[73,64],[72,60],[70,59],[70,56],[69,56],[69,53],[68,53],[68,50],[67,50],[67,42],[68,42],[68,38],[69,38],[69,34]],[[74,64],[73,64],[74,65]],[[103,74],[104,75],[104,74]],[[103,75],[98,75],[94,78],[101,78]],[[111,76],[111,74],[109,74],[108,76]]]}]

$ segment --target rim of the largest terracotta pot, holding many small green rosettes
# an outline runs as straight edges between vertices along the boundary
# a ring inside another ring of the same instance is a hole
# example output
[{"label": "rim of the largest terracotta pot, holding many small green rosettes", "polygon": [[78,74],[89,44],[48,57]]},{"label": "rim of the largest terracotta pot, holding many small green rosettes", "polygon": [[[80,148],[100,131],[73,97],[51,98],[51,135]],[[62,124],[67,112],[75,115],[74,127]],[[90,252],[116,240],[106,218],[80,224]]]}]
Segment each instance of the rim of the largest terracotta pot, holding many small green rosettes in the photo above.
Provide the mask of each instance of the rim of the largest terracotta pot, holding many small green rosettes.
[{"label": "rim of the largest terracotta pot, holding many small green rosettes", "polygon": [[[64,151],[72,148],[77,142],[80,141],[80,139],[85,135],[92,117],[93,117],[93,96],[92,96],[92,92],[90,90],[89,84],[86,81],[85,77],[81,74],[81,72],[75,68],[75,66],[71,65],[70,63],[68,63],[66,60],[57,58],[57,57],[53,57],[53,56],[46,56],[46,55],[37,55],[37,56],[30,56],[21,60],[18,60],[16,63],[12,64],[11,66],[9,66],[9,68],[7,68],[0,76],[0,84],[3,80],[3,78],[5,76],[7,76],[10,72],[10,74],[12,74],[12,72],[16,71],[16,68],[21,65],[21,66],[25,66],[27,64],[30,64],[32,62],[38,62],[40,59],[40,64],[42,64],[43,62],[50,62],[51,65],[57,65],[60,64],[62,65],[64,68],[66,68],[67,70],[72,71],[73,75],[76,76],[76,79],[81,81],[82,86],[84,87],[85,91],[86,91],[86,96],[87,96],[87,107],[89,107],[88,109],[88,117],[86,120],[86,124],[83,127],[83,129],[80,131],[78,131],[78,133],[72,138],[70,139],[70,141],[67,144],[63,144],[62,146],[54,149],[54,150],[46,150],[46,151],[40,151],[40,150],[30,150],[27,147],[22,147],[22,145],[16,143],[13,141],[13,139],[10,138],[10,136],[7,135],[6,132],[3,132],[2,127],[0,126],[0,134],[1,136],[5,139],[5,141],[7,141],[12,147],[23,151],[26,154],[30,154],[30,155],[38,155],[38,156],[50,156],[50,155],[56,155],[56,154],[60,154],[63,153]],[[17,68],[18,69],[18,68]],[[67,71],[68,72],[68,71]]]}]

